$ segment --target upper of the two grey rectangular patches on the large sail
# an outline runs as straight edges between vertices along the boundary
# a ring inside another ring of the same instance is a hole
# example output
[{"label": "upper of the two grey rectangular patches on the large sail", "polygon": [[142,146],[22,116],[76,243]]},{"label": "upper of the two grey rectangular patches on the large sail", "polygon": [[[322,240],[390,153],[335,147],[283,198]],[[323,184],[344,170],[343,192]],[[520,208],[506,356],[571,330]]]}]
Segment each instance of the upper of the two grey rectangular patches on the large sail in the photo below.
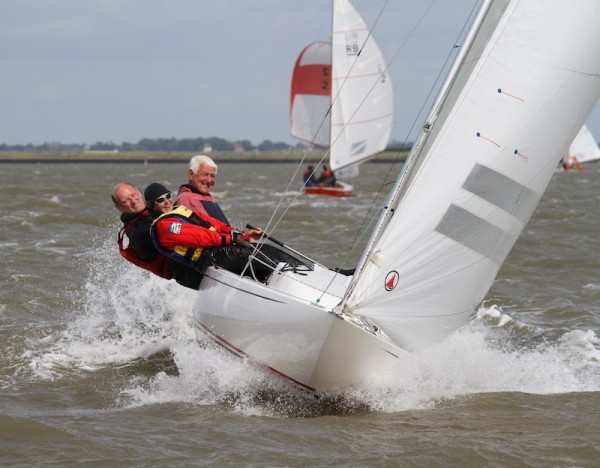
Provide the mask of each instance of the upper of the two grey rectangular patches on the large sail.
[{"label": "upper of the two grey rectangular patches on the large sail", "polygon": [[463,189],[490,202],[525,223],[540,195],[489,167],[476,164]]}]

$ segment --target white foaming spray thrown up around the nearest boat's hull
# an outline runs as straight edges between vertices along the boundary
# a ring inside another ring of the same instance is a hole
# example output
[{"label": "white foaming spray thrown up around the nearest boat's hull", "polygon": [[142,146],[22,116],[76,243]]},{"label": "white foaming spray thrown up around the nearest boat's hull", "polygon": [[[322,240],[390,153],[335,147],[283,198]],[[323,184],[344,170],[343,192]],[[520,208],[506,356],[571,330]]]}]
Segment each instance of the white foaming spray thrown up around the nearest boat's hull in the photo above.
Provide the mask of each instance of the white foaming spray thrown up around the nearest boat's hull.
[{"label": "white foaming spray thrown up around the nearest boat's hull", "polygon": [[[225,405],[247,415],[310,417],[425,409],[487,392],[600,390],[600,339],[593,331],[528,325],[494,305],[482,306],[467,327],[360,388],[317,399],[196,341],[195,292],[127,264],[114,241],[101,243],[89,265],[75,310],[59,330],[33,340],[35,351],[26,358],[36,380],[101,372],[121,379],[111,403],[116,406]],[[124,367],[137,372],[117,372]]]}]

